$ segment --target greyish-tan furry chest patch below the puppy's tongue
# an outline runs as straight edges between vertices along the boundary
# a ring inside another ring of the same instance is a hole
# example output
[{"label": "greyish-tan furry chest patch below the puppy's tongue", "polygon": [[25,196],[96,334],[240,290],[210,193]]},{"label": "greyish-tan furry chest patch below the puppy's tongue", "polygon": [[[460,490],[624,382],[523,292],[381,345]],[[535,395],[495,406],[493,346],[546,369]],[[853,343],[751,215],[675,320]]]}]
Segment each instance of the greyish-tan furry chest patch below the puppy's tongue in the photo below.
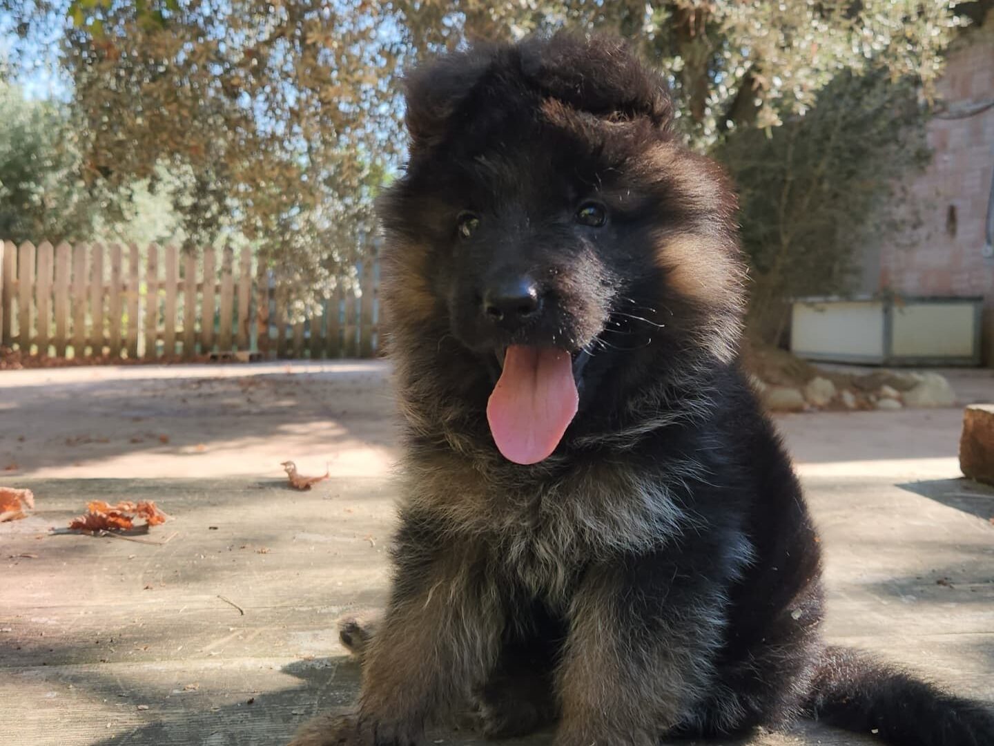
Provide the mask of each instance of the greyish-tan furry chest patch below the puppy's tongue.
[{"label": "greyish-tan furry chest patch below the puppy's tongue", "polygon": [[623,462],[546,475],[445,458],[409,476],[417,513],[472,545],[495,580],[550,599],[588,562],[658,548],[691,523],[674,484]]}]

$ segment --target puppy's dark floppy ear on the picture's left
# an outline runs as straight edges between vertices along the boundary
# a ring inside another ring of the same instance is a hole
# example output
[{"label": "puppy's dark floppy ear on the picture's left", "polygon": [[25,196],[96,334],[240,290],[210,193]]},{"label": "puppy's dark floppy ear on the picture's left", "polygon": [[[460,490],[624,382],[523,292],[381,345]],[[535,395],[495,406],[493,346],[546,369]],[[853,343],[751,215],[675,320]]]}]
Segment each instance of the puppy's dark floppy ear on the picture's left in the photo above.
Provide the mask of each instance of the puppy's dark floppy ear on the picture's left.
[{"label": "puppy's dark floppy ear on the picture's left", "polygon": [[494,49],[477,45],[469,52],[453,52],[420,65],[405,78],[413,153],[437,144],[448,132],[459,104],[490,68]]}]

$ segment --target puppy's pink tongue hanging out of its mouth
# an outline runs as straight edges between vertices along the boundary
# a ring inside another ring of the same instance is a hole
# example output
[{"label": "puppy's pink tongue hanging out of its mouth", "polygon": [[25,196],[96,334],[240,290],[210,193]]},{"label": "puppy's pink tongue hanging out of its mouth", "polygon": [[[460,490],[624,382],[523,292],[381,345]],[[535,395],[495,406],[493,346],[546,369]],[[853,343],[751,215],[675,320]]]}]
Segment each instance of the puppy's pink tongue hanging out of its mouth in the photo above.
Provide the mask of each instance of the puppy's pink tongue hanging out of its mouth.
[{"label": "puppy's pink tongue hanging out of its mouth", "polygon": [[573,360],[563,350],[512,345],[487,403],[497,449],[515,464],[549,457],[577,414]]}]

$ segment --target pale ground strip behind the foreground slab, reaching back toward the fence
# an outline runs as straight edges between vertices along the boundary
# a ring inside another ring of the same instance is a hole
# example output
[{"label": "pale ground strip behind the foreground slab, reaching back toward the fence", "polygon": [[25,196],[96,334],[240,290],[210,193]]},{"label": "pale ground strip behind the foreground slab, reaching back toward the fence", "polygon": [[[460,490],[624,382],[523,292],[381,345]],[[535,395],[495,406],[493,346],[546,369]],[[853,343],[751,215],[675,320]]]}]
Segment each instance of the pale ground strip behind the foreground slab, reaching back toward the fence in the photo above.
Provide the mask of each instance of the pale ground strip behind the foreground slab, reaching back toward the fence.
[{"label": "pale ground strip behind the foreground slab, reaching back toward the fence", "polygon": [[[942,372],[961,403],[994,400],[994,371]],[[380,473],[396,456],[389,378],[381,361],[2,372],[0,477],[263,476],[288,459]],[[950,477],[961,419],[957,407],[778,421],[806,472]]]}]

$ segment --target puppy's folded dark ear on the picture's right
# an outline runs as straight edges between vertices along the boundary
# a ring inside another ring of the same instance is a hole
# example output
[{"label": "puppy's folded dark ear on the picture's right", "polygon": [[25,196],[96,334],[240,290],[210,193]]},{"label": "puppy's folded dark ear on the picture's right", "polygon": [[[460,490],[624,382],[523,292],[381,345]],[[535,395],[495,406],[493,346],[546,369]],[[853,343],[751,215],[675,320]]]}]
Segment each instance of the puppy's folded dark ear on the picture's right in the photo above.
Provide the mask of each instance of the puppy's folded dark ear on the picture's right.
[{"label": "puppy's folded dark ear on the picture's right", "polygon": [[520,50],[522,74],[547,96],[605,118],[644,116],[660,128],[672,120],[662,76],[642,65],[617,37],[559,32],[528,39]]}]

